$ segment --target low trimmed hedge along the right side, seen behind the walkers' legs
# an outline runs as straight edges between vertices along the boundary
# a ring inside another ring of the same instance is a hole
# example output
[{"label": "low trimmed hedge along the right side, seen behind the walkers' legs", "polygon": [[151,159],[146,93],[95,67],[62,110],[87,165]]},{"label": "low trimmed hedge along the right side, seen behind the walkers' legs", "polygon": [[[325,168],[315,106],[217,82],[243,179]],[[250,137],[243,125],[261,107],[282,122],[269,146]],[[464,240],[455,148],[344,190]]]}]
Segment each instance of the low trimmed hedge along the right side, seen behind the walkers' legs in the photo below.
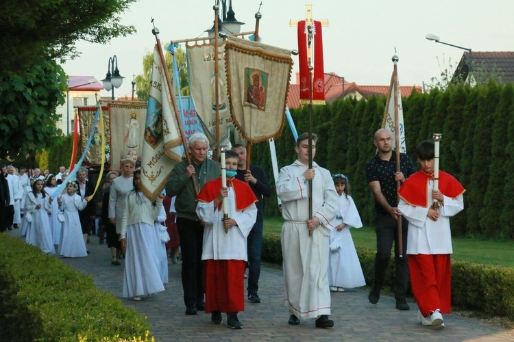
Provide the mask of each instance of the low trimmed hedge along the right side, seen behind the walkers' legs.
[{"label": "low trimmed hedge along the right side, seen behind the walkers' legs", "polygon": [[[376,251],[371,248],[356,249],[366,283],[371,285]],[[282,265],[280,234],[263,234],[262,261]],[[385,283],[391,289],[394,267],[391,256]],[[514,319],[514,269],[452,261],[452,306]]]}]

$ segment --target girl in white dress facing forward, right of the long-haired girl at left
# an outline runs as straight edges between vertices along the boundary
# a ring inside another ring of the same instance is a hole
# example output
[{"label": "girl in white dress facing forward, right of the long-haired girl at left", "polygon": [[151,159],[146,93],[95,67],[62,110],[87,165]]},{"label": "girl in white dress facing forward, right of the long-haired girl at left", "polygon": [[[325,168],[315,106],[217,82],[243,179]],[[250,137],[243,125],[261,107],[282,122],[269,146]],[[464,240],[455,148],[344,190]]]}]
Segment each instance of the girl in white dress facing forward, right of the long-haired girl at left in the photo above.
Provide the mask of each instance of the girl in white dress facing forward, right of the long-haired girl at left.
[{"label": "girl in white dress facing forward, right of the long-haired girl at left", "polygon": [[69,181],[66,183],[66,194],[58,198],[59,207],[64,215],[58,252],[60,257],[82,258],[88,256],[79,219],[79,210],[83,210],[88,205],[88,201],[87,197],[82,200],[76,191],[77,183]]}]

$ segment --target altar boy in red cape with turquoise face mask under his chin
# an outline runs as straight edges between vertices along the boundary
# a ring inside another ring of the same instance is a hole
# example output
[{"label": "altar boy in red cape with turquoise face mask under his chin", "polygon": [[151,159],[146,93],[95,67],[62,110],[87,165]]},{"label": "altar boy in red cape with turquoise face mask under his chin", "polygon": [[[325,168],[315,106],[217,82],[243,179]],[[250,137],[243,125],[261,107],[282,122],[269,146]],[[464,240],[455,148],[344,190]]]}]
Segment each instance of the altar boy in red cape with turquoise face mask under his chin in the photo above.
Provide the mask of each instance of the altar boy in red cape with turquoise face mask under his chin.
[{"label": "altar boy in red cape with turquoise face mask under his chin", "polygon": [[[221,324],[221,313],[227,313],[229,328],[241,329],[237,318],[245,309],[244,274],[247,263],[246,238],[257,219],[257,198],[243,181],[235,179],[238,155],[225,152],[228,187],[221,178],[208,181],[197,196],[198,217],[205,222],[204,289],[206,313],[211,321]],[[223,220],[223,198],[228,198],[228,219]]]}]

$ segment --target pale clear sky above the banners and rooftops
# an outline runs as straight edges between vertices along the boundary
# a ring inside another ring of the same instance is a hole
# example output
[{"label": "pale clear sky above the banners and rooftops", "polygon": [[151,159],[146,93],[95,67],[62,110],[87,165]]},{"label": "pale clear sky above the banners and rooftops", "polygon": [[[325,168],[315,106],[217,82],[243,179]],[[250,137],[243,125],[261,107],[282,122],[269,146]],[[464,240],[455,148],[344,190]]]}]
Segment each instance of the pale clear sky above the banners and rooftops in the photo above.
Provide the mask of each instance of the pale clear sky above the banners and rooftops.
[{"label": "pale clear sky above the banners and rooftops", "polygon": [[[236,19],[245,23],[241,31],[255,29],[255,14],[261,0],[232,0]],[[117,56],[125,77],[114,96],[131,96],[132,77],[143,73],[143,56],[156,42],[151,18],[160,30],[164,46],[171,40],[206,36],[212,27],[215,0],[139,0],[121,14],[123,25],[134,25],[137,33],[113,39],[110,44],[77,42],[82,53],[63,64],[71,76],[106,77],[109,57]],[[402,86],[423,86],[439,77],[444,68],[456,66],[464,50],[426,40],[427,34],[472,51],[514,51],[514,1],[464,0],[262,0],[259,36],[265,44],[297,49],[296,28],[289,21],[304,20],[305,5],[313,5],[313,18],[329,22],[323,27],[325,72],[334,72],[358,85],[389,85],[397,55]],[[395,52],[396,51],[396,52]],[[291,83],[295,83],[298,57],[293,56]],[[110,96],[101,91],[101,96]]]}]

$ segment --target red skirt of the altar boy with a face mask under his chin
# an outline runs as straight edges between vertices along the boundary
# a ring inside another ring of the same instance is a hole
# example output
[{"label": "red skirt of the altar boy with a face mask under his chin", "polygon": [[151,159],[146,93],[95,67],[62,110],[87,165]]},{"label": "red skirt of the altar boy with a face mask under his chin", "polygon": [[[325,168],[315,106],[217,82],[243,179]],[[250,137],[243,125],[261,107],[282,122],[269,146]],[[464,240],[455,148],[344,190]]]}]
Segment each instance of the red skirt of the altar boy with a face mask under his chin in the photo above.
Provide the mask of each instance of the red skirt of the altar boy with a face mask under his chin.
[{"label": "red skirt of the altar boy with a face mask under his chin", "polygon": [[205,312],[245,310],[244,260],[204,260]]}]

